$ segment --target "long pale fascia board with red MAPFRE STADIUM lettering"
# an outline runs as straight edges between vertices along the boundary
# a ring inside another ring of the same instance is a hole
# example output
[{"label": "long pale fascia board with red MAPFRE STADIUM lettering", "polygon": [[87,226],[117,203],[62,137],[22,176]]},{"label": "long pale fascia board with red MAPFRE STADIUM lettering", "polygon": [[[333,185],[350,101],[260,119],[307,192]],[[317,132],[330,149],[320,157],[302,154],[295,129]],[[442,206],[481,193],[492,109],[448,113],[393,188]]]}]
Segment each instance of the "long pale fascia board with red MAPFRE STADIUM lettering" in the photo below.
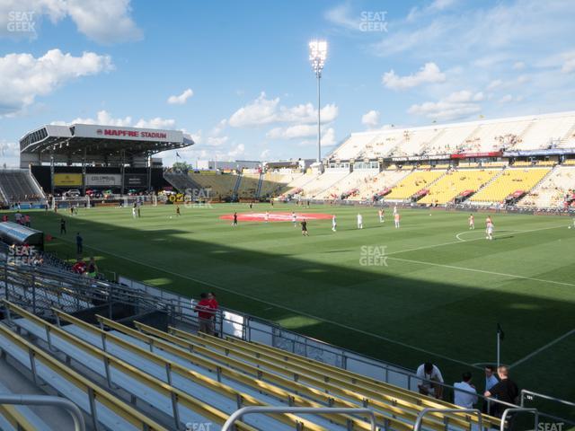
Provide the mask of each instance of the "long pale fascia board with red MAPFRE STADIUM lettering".
[{"label": "long pale fascia board with red MAPFRE STADIUM lettering", "polygon": [[76,124],[74,135],[77,137],[95,137],[134,141],[182,142],[180,130],[154,130],[146,128],[116,128],[91,124]]}]

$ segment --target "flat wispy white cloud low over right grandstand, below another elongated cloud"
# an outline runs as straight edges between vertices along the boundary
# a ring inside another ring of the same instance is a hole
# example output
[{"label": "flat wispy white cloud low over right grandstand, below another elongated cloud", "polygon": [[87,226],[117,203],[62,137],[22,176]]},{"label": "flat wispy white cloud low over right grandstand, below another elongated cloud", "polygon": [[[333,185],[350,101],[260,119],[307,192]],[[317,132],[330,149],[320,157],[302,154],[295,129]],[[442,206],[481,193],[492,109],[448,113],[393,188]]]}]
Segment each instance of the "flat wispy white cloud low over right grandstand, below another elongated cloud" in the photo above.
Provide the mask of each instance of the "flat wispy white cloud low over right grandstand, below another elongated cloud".
[{"label": "flat wispy white cloud low over right grandstand, below another elongated cloud", "polygon": [[482,92],[452,92],[439,101],[426,101],[420,105],[411,105],[410,114],[425,116],[429,119],[450,120],[462,119],[481,111],[478,101],[482,101]]}]

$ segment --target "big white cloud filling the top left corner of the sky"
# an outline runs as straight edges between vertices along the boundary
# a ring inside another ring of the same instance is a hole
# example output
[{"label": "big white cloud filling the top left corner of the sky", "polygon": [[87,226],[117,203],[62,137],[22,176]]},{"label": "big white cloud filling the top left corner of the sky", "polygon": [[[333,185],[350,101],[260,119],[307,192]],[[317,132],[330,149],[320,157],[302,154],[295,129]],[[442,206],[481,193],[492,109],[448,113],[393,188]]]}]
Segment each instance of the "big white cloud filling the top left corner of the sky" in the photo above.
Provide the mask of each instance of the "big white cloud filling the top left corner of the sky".
[{"label": "big white cloud filling the top left corner of the sky", "polygon": [[142,38],[142,31],[137,28],[130,16],[130,0],[4,0],[0,2],[0,36],[33,38],[36,37],[35,32],[7,31],[10,12],[32,12],[34,24],[38,24],[43,16],[48,16],[52,23],[70,17],[75,22],[78,31],[88,39],[103,44]]}]

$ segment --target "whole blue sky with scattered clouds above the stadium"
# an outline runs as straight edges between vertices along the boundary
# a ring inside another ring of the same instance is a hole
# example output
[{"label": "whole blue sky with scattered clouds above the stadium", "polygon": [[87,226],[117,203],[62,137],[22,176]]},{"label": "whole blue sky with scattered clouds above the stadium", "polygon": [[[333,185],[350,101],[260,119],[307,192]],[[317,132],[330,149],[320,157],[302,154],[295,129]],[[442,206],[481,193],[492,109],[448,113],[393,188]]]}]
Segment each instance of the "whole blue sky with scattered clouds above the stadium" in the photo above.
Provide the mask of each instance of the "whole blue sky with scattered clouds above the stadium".
[{"label": "whole blue sky with scattered clouds above the stadium", "polygon": [[0,163],[75,120],[183,129],[190,163],[314,157],[314,38],[325,151],[392,124],[575,110],[573,22],[567,0],[0,0]]}]

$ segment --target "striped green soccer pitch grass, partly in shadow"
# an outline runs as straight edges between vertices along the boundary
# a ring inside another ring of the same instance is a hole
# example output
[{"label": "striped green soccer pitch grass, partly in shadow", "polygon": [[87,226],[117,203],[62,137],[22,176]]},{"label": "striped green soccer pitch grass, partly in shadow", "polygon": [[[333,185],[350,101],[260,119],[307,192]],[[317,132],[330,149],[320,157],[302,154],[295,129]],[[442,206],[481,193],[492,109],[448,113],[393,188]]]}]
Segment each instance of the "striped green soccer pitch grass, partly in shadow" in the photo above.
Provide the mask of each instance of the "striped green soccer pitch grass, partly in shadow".
[{"label": "striped green soccer pitch grass, partly in shadow", "polygon": [[[259,204],[254,212],[328,213],[338,219],[308,223],[310,236],[290,222],[243,222],[219,216],[249,213],[246,204],[211,208],[143,207],[36,212],[32,225],[54,235],[48,251],[84,256],[100,269],[198,297],[213,290],[226,307],[276,321],[285,328],[415,368],[438,364],[447,383],[496,356],[496,325],[505,331],[501,362],[522,388],[575,399],[575,229],[571,218],[493,214],[487,241],[485,214],[402,210],[394,229],[376,208]],[[358,211],[364,229],[356,228]],[[60,216],[67,235],[58,235]],[[385,247],[385,260],[361,259]],[[373,265],[362,265],[371,263]],[[385,264],[383,264],[385,263]]]}]

